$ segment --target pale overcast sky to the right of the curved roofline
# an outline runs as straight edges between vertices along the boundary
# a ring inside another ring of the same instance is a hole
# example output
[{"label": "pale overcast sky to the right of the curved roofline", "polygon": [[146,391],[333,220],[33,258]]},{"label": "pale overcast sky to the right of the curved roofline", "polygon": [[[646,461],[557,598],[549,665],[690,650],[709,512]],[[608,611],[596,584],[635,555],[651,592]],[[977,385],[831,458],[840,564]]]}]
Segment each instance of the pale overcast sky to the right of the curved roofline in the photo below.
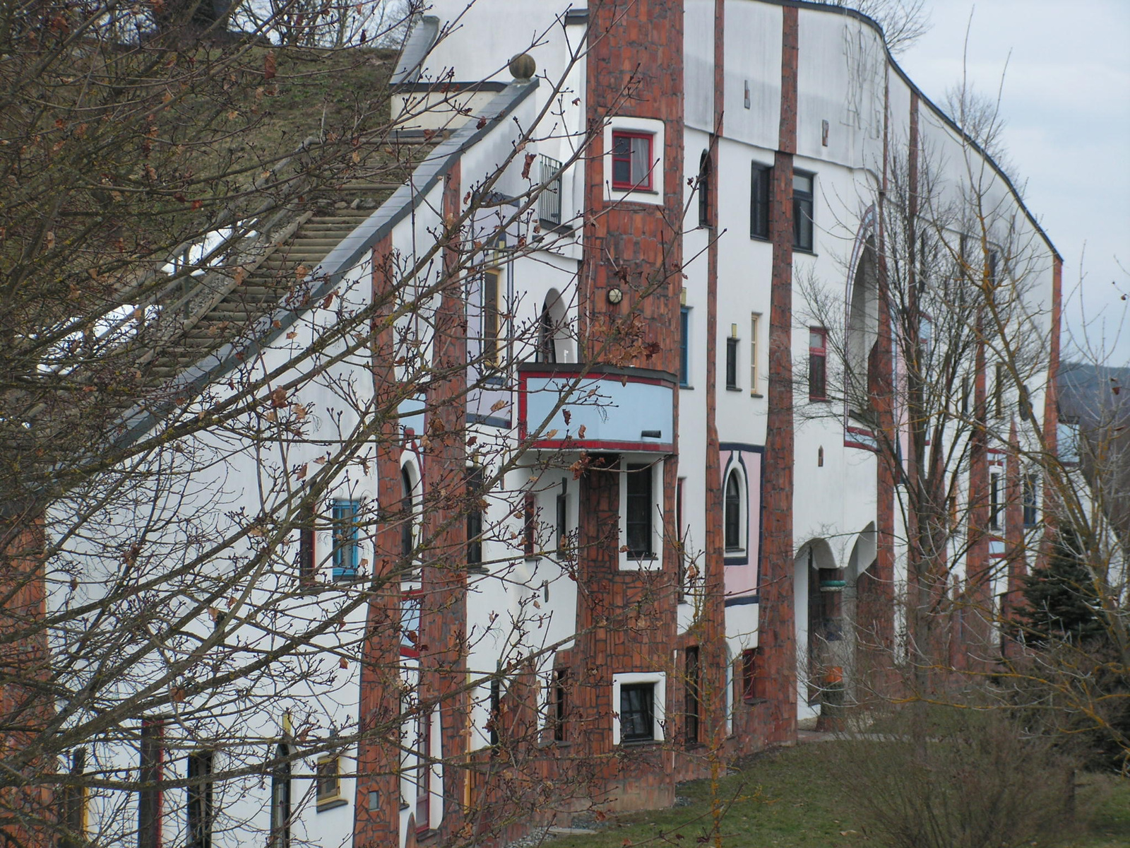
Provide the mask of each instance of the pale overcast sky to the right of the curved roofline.
[{"label": "pale overcast sky to the right of the curved roofline", "polygon": [[996,96],[1003,73],[1014,173],[1063,257],[1063,357],[1086,328],[1109,364],[1130,364],[1130,0],[927,5],[931,29],[898,63],[941,105],[962,79],[972,12],[967,78]]}]

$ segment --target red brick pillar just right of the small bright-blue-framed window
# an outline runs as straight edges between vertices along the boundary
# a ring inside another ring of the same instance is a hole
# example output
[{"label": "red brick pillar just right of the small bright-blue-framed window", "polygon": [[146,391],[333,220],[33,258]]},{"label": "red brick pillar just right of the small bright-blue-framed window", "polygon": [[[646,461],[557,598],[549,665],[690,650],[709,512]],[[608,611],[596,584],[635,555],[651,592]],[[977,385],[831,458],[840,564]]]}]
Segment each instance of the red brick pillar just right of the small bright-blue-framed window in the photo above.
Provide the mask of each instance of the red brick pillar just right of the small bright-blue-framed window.
[{"label": "red brick pillar just right of the small bright-blue-framed window", "polygon": [[[373,393],[377,410],[392,412],[402,392],[392,362],[395,338],[384,319],[392,312],[392,289],[397,282],[392,266],[392,237],[374,249],[373,301]],[[380,328],[380,329],[379,329]],[[377,434],[377,499],[381,514],[400,508],[400,438],[394,417],[381,418]],[[354,802],[354,843],[358,848],[397,845],[400,839],[400,528],[381,522],[374,534],[374,591],[366,616],[367,638],[360,668],[363,737],[357,750],[357,794]],[[370,794],[379,804],[370,810]]]}]

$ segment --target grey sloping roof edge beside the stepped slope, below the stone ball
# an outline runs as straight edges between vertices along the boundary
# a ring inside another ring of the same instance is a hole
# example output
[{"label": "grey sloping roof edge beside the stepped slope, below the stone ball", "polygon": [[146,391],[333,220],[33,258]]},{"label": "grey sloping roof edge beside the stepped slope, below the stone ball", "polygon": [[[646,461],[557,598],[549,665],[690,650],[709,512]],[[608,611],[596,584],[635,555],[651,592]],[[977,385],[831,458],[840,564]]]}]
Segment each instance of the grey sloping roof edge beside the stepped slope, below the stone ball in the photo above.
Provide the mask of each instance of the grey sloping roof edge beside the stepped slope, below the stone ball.
[{"label": "grey sloping roof edge beside the stepped slope, below the stone ball", "polygon": [[[346,272],[365,258],[381,239],[390,234],[393,227],[403,220],[418,207],[428,192],[443,179],[443,175],[454,164],[464,150],[477,144],[484,136],[494,130],[514,109],[524,101],[534,88],[538,78],[514,80],[499,92],[487,104],[486,109],[470,118],[462,127],[441,141],[412,172],[408,181],[401,184],[372,215],[365,218],[349,235],[338,242],[325,256],[307,279],[321,279],[321,284],[311,292],[304,309],[277,308],[257,319],[247,329],[247,336],[253,340],[241,345],[229,343],[216,349],[194,365],[190,365],[175,379],[165,383],[163,389],[169,395],[193,396],[206,386],[234,371],[240,364],[250,361],[259,351],[271,345],[298,320],[298,317],[314,309],[327,294],[340,282]],[[486,119],[479,126],[475,118]],[[141,438],[175,406],[169,401],[165,409],[154,410],[138,405],[127,412],[112,430],[120,431],[119,444],[129,444]]]}]

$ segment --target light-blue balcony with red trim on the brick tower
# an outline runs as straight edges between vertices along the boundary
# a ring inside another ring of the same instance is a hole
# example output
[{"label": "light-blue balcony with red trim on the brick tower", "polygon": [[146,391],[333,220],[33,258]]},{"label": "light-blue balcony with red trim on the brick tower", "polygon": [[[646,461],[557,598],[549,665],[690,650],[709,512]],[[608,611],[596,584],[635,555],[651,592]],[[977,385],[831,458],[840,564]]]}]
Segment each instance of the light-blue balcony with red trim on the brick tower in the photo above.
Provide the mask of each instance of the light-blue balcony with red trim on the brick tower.
[{"label": "light-blue balcony with red trim on the brick tower", "polygon": [[531,447],[542,450],[670,453],[677,386],[667,371],[527,363],[519,370],[519,435],[538,433]]}]

